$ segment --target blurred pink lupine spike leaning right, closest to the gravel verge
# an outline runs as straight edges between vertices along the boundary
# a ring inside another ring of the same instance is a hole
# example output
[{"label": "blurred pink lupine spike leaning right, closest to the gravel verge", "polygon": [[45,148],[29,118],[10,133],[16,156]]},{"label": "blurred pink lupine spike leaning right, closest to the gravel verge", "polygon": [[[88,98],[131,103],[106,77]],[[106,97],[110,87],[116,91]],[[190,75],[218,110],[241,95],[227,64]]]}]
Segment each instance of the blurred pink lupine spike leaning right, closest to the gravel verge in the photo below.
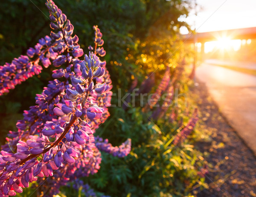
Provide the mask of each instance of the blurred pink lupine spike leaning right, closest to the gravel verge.
[{"label": "blurred pink lupine spike leaning right, closest to the gravel verge", "polygon": [[173,140],[173,144],[177,146],[178,143],[182,143],[186,137],[192,132],[195,127],[195,123],[198,121],[198,109],[195,108],[192,117],[186,126],[175,136]]}]

